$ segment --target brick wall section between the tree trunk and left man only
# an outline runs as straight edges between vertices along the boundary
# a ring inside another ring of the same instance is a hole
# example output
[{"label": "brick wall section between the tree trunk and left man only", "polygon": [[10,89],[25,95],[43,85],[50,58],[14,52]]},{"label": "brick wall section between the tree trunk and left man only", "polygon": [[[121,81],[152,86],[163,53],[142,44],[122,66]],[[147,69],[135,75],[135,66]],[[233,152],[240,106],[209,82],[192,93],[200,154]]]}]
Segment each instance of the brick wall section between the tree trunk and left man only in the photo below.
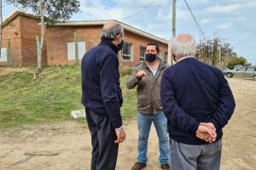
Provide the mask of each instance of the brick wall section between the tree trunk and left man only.
[{"label": "brick wall section between the tree trunk and left man only", "polygon": [[[47,27],[47,52],[49,65],[74,65],[75,60],[67,59],[67,42],[85,41],[85,51],[101,42],[102,26],[49,26]],[[81,62],[81,61],[79,61]]]}]

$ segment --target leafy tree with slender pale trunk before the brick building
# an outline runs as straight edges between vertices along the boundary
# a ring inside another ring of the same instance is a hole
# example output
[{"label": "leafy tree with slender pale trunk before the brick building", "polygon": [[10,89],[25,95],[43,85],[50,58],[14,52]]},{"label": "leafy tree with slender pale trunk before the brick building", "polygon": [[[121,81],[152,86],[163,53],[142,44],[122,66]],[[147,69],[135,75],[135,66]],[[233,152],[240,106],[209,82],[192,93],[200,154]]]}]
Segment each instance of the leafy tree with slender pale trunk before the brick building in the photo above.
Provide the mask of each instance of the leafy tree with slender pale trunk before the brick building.
[{"label": "leafy tree with slender pale trunk before the brick building", "polygon": [[38,70],[42,68],[44,47],[44,26],[53,26],[58,22],[69,20],[73,14],[79,13],[80,3],[77,0],[6,0],[17,8],[31,8],[41,20],[41,42],[38,52]]}]

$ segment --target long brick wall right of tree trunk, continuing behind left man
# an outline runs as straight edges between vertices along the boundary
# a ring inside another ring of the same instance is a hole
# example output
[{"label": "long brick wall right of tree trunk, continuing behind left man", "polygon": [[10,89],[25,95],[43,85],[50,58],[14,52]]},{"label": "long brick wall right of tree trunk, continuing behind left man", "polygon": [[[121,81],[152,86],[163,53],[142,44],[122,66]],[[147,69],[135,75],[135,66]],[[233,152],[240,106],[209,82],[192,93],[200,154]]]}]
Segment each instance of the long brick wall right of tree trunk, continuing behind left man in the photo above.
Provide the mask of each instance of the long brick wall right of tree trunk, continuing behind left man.
[{"label": "long brick wall right of tree trunk, continuing behind left man", "polygon": [[[78,33],[78,41],[85,41],[86,52],[101,42],[102,26],[50,26],[47,27],[47,52],[49,65],[74,65],[75,60],[67,59],[67,42],[74,42],[74,32]],[[122,60],[119,51],[119,61],[122,65],[136,66],[140,62],[140,46],[155,42],[147,37],[139,36],[131,31],[125,31],[125,42],[133,44],[133,60]],[[162,52],[168,51],[168,45],[157,42]],[[80,62],[80,61],[79,61]]]}]

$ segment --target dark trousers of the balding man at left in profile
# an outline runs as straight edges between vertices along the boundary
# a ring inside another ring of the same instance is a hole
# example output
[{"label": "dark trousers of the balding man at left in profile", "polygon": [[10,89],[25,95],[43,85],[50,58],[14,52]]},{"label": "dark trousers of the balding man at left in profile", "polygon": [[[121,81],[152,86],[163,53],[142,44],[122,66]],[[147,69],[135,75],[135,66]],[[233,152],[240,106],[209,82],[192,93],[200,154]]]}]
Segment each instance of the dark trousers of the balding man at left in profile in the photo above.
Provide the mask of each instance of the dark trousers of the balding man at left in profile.
[{"label": "dark trousers of the balding man at left in profile", "polygon": [[100,116],[85,108],[86,120],[91,135],[91,170],[114,170],[119,144],[115,129],[108,116]]}]

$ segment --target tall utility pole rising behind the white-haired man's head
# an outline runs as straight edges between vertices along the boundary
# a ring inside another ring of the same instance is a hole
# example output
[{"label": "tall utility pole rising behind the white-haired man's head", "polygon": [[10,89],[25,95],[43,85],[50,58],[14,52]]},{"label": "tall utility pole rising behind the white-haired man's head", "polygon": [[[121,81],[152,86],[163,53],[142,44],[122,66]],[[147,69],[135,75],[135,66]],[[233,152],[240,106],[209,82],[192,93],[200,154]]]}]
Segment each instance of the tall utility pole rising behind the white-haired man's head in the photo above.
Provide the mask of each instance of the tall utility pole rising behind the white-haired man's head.
[{"label": "tall utility pole rising behind the white-haired man's head", "polygon": [[[172,0],[172,39],[176,37],[176,0]],[[168,64],[173,65],[172,40],[168,42]]]}]

